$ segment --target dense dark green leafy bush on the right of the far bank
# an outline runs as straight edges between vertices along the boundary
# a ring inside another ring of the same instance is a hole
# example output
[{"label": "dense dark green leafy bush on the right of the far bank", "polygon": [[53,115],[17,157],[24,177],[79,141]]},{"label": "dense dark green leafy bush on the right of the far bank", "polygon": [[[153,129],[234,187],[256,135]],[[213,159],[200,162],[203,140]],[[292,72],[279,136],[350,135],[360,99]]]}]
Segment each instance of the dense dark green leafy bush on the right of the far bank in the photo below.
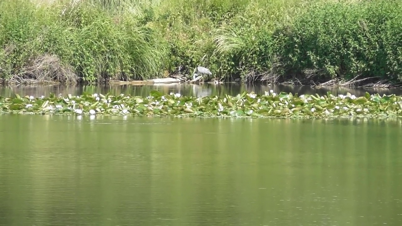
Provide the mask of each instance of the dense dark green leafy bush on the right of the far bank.
[{"label": "dense dark green leafy bush on the right of the far bank", "polygon": [[275,39],[287,74],[318,80],[379,77],[401,80],[402,4],[365,1],[314,4]]}]

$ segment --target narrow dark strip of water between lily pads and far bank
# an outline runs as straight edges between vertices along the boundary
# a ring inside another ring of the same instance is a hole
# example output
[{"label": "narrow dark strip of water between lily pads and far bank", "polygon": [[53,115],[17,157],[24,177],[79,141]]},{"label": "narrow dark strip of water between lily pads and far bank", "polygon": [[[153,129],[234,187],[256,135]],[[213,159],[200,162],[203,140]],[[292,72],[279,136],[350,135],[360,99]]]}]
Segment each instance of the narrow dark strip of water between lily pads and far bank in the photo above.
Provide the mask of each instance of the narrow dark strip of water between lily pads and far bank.
[{"label": "narrow dark strip of water between lily pads and far bank", "polygon": [[370,94],[379,93],[380,95],[402,95],[402,89],[383,89],[383,88],[354,88],[354,87],[325,87],[325,88],[312,88],[310,86],[288,86],[288,85],[265,85],[265,84],[146,84],[146,85],[79,85],[79,86],[64,86],[64,85],[51,85],[51,86],[2,86],[0,87],[0,96],[12,96],[14,93],[19,95],[32,95],[32,96],[46,96],[49,93],[56,95],[72,94],[81,95],[83,92],[87,93],[111,93],[125,94],[133,96],[148,96],[152,90],[158,90],[162,93],[180,93],[187,96],[208,96],[217,95],[224,96],[237,95],[244,91],[255,92],[263,94],[265,91],[273,90],[274,92],[291,92],[302,94],[316,94],[326,95],[328,91],[334,95],[346,95],[350,92],[355,96],[363,96],[365,92]]}]

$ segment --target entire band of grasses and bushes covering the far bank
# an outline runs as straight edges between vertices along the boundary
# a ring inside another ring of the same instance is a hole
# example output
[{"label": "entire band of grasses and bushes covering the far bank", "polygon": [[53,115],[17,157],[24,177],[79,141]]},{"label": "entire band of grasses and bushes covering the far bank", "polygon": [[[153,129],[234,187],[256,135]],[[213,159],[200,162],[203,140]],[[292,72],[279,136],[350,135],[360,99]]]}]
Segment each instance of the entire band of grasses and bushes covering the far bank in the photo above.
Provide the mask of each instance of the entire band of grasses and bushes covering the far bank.
[{"label": "entire band of grasses and bushes covering the far bank", "polygon": [[402,86],[400,0],[0,0],[0,81]]}]

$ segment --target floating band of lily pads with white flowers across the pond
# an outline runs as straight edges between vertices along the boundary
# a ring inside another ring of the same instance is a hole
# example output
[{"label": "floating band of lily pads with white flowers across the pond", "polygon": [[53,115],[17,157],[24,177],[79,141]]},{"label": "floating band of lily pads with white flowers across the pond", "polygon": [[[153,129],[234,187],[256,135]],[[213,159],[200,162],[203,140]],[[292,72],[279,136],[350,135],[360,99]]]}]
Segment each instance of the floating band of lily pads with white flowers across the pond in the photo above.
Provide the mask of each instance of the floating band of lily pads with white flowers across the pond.
[{"label": "floating band of lily pads with white flowers across the pond", "polygon": [[0,113],[174,117],[400,117],[402,97],[379,94],[300,95],[243,92],[236,96],[186,97],[151,91],[148,97],[83,94],[0,97]]}]

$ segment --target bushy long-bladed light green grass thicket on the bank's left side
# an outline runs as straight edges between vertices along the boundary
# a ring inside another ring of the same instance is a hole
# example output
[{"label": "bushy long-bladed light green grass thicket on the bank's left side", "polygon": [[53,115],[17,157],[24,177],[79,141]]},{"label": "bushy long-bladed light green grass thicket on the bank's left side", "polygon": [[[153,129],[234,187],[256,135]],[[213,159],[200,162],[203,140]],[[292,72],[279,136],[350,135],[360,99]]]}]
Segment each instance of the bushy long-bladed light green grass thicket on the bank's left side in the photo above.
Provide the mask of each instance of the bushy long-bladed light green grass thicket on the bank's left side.
[{"label": "bushy long-bladed light green grass thicket on the bank's left side", "polygon": [[[73,68],[75,76],[88,82],[147,79],[164,68],[167,44],[162,35],[129,12],[113,15],[86,2],[37,7],[29,0],[2,1],[0,25],[0,46],[14,46],[7,59],[0,58],[2,68],[13,70],[4,78],[38,79],[32,71],[43,61],[35,59],[45,60],[45,55],[59,59],[54,66],[65,68],[58,71]],[[66,81],[72,74],[58,77]]]}]

